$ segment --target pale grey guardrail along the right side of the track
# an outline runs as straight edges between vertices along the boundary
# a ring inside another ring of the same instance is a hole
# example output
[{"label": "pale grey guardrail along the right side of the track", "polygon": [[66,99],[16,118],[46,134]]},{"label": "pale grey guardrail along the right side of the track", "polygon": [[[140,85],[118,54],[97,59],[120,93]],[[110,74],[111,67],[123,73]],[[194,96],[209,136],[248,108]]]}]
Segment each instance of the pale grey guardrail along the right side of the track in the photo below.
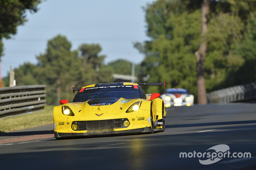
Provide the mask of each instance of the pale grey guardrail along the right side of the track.
[{"label": "pale grey guardrail along the right side of the track", "polygon": [[256,100],[256,81],[207,93],[208,103],[231,103]]}]

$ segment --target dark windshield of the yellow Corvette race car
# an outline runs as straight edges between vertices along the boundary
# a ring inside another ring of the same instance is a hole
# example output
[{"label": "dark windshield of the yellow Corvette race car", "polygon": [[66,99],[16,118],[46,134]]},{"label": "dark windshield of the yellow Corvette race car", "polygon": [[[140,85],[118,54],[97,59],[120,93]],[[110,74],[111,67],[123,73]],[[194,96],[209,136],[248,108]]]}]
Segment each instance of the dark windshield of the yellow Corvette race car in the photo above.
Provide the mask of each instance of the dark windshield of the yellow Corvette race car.
[{"label": "dark windshield of the yellow Corvette race car", "polygon": [[84,102],[91,99],[108,99],[108,98],[138,99],[140,93],[135,88],[97,88],[78,92],[73,102]]}]

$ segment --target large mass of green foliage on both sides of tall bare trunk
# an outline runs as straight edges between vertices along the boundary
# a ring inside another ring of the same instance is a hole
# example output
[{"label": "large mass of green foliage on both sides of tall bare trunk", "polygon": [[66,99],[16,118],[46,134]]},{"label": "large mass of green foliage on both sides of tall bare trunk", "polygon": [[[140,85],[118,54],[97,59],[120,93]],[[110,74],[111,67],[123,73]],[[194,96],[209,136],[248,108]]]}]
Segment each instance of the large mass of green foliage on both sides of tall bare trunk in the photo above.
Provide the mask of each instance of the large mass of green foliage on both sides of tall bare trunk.
[{"label": "large mass of green foliage on both sides of tall bare trunk", "polygon": [[[203,0],[158,0],[144,8],[150,40],[137,42],[134,47],[145,54],[141,66],[144,76],[150,75],[150,82],[166,81],[168,88],[186,88],[196,95],[195,52],[202,41],[202,3]],[[207,92],[236,84],[230,75],[249,71],[244,67],[248,58],[242,54],[247,50],[250,56],[255,55],[253,31],[250,35],[247,33],[250,28],[255,30],[249,25],[253,25],[256,1],[211,0],[209,7],[204,72]],[[249,42],[251,46],[245,49],[245,43]],[[253,66],[250,68],[255,69]],[[255,81],[252,74],[248,75]],[[227,84],[226,80],[233,81]],[[249,81],[248,78],[246,80]],[[154,86],[148,90],[153,92],[161,88]]]}]

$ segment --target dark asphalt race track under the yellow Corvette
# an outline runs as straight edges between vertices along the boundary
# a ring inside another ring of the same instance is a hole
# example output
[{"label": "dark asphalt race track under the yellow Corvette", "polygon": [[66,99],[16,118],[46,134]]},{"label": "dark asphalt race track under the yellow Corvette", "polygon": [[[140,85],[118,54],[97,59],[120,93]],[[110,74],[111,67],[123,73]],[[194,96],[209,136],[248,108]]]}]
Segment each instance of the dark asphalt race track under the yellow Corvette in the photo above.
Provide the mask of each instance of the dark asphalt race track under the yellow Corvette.
[{"label": "dark asphalt race track under the yellow Corvette", "polygon": [[256,169],[256,104],[166,112],[165,131],[154,134],[56,140],[53,125],[0,133],[10,140],[0,144],[0,169]]}]

